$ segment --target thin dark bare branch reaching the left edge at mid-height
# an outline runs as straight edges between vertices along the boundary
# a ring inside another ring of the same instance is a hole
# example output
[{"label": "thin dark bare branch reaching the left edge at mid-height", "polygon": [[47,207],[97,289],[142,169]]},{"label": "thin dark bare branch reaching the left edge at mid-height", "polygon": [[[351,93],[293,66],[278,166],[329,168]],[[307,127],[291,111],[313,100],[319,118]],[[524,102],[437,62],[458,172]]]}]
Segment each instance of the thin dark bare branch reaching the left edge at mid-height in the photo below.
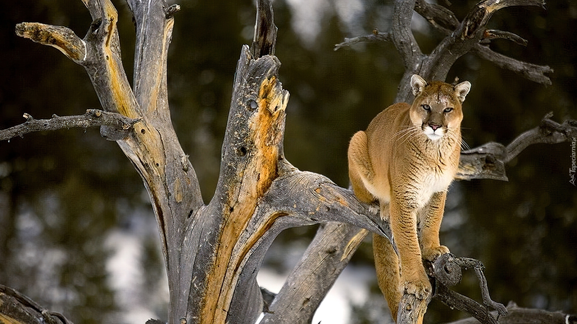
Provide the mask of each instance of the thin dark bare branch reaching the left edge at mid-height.
[{"label": "thin dark bare branch reaching the left edge at mid-height", "polygon": [[98,109],[88,109],[84,115],[74,116],[57,116],[52,115],[50,119],[34,119],[29,114],[24,114],[26,122],[10,127],[9,129],[0,130],[0,141],[10,140],[17,136],[23,137],[24,134],[34,133],[36,131],[84,128],[95,126],[110,126],[115,130],[121,131],[128,135],[132,127],[140,119],[132,119],[115,112],[107,112]]}]

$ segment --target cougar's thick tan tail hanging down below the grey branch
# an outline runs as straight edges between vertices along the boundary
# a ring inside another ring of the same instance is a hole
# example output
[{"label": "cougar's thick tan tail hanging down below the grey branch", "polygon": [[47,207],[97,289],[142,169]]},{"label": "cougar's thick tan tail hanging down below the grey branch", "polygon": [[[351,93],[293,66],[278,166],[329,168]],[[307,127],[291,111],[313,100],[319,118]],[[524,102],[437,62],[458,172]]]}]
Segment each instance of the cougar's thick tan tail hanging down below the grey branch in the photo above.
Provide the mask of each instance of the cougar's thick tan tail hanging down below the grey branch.
[{"label": "cougar's thick tan tail hanging down below the grey branch", "polygon": [[396,322],[400,302],[399,258],[389,239],[373,234],[374,267],[379,288],[387,299],[391,317]]}]

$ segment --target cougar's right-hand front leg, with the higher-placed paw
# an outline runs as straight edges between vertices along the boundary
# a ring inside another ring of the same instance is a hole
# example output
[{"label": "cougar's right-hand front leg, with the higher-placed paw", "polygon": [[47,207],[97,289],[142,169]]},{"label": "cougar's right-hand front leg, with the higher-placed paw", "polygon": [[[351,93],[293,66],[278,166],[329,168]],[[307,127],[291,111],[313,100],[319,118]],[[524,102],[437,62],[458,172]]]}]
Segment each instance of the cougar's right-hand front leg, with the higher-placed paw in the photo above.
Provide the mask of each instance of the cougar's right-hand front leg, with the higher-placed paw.
[{"label": "cougar's right-hand front leg, with the higher-placed paw", "polygon": [[435,261],[437,257],[449,253],[449,249],[439,242],[439,229],[445,211],[445,199],[447,193],[444,191],[434,193],[425,207],[426,210],[421,220],[421,251],[423,258]]}]

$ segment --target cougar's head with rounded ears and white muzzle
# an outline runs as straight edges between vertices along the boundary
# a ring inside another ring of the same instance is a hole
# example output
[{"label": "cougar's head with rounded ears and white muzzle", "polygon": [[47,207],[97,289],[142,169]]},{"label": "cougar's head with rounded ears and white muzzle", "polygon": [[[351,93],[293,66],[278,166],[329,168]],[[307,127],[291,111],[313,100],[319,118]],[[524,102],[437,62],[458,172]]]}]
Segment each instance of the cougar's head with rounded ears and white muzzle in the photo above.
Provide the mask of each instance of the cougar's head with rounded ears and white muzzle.
[{"label": "cougar's head with rounded ears and white muzzle", "polygon": [[460,129],[462,103],[471,89],[471,82],[450,85],[441,81],[426,82],[417,74],[411,77],[415,100],[410,117],[413,126],[421,127],[430,140],[443,138],[447,131]]}]

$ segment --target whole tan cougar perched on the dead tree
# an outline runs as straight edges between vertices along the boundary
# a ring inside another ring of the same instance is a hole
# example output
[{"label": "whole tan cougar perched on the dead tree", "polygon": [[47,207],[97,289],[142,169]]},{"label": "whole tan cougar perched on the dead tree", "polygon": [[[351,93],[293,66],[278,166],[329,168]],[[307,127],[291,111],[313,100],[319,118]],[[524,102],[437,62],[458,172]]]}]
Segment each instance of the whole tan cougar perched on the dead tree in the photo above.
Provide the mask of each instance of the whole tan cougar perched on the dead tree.
[{"label": "whole tan cougar perched on the dead tree", "polygon": [[389,106],[366,131],[354,134],[349,145],[355,195],[364,202],[378,200],[381,210],[389,208],[399,256],[378,235],[373,236],[373,250],[379,287],[395,321],[404,291],[419,299],[432,291],[422,259],[433,261],[449,252],[439,243],[439,228],[447,188],[459,166],[461,105],[471,84],[427,83],[415,74],[411,86],[411,106]]}]

